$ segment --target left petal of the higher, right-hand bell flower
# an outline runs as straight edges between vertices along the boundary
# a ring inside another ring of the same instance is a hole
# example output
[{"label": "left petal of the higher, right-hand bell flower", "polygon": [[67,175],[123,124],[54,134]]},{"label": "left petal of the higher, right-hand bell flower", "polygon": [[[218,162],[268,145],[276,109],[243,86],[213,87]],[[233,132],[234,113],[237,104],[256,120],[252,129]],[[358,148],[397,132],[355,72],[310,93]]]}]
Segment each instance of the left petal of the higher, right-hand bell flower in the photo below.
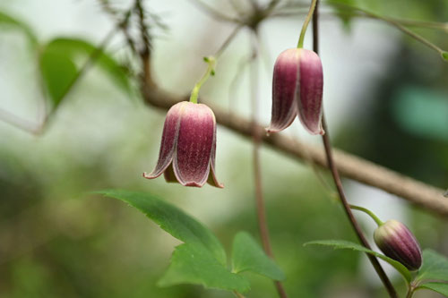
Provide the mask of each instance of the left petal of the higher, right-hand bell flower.
[{"label": "left petal of the higher, right-hand bell flower", "polygon": [[277,58],[272,79],[272,114],[267,132],[286,129],[297,115],[300,49],[289,48]]}]

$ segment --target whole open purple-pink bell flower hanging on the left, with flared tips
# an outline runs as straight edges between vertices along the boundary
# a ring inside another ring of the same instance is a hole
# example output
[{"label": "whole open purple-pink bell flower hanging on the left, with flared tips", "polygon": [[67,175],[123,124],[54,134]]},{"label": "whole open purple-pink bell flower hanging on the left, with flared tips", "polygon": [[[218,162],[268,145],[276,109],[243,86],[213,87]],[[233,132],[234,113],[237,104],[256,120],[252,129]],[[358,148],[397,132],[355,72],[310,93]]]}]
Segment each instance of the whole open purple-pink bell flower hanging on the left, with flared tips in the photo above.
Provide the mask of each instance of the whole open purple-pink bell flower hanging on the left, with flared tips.
[{"label": "whole open purple-pink bell flower hanging on the left, with flared tips", "polygon": [[163,173],[167,182],[222,188],[215,176],[215,152],[216,119],[211,108],[179,102],[171,106],[165,119],[157,166],[143,177],[154,179]]}]

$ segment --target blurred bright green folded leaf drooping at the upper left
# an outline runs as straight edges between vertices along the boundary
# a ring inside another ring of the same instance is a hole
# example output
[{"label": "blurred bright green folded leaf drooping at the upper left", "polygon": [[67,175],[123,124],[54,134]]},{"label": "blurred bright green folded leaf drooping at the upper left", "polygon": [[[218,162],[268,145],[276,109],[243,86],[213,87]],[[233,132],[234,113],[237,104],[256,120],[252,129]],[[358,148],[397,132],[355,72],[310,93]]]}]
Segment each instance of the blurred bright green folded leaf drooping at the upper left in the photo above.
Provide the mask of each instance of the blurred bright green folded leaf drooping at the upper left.
[{"label": "blurred bright green folded leaf drooping at the upper left", "polygon": [[124,69],[112,56],[82,39],[56,38],[40,53],[40,70],[55,108],[78,78],[81,65],[86,63],[95,51],[99,52],[94,57],[94,64],[98,64],[116,86],[125,91],[130,90]]}]

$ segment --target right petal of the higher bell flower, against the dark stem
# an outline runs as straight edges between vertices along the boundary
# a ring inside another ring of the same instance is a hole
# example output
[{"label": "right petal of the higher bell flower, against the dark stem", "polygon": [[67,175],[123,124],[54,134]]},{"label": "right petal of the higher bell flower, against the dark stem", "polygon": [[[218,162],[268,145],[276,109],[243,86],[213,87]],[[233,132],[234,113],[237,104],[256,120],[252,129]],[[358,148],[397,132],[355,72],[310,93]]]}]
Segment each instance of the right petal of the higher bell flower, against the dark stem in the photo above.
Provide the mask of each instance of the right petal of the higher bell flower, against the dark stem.
[{"label": "right petal of the higher bell flower, against the dark stem", "polygon": [[311,134],[323,134],[322,96],[323,70],[319,55],[300,49],[299,88],[297,89],[298,117]]}]

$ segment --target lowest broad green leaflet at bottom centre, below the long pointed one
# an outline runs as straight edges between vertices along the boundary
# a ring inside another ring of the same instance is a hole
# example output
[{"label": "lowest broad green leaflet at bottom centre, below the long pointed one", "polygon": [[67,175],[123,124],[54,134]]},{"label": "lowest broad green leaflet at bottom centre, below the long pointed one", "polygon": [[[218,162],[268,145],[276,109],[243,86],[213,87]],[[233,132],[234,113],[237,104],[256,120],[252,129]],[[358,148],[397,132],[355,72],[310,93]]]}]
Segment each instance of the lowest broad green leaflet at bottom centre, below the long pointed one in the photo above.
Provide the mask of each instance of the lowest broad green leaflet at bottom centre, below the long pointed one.
[{"label": "lowest broad green leaflet at bottom centre, below the long pointed one", "polygon": [[177,246],[160,286],[195,284],[245,293],[250,289],[245,277],[232,273],[218,262],[210,251],[197,243]]}]

